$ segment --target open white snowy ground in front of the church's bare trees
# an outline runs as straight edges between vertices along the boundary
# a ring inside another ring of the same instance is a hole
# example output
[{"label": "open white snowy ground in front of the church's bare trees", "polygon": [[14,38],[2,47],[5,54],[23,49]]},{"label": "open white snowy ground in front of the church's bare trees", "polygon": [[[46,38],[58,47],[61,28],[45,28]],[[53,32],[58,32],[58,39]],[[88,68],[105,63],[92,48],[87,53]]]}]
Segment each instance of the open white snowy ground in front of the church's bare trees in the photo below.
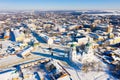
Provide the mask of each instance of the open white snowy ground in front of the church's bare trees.
[{"label": "open white snowy ground in front of the church's bare trees", "polygon": [[100,72],[90,71],[85,73],[83,71],[78,70],[77,71],[71,69],[66,70],[69,71],[69,73],[72,75],[71,78],[73,80],[116,80],[102,71]]}]

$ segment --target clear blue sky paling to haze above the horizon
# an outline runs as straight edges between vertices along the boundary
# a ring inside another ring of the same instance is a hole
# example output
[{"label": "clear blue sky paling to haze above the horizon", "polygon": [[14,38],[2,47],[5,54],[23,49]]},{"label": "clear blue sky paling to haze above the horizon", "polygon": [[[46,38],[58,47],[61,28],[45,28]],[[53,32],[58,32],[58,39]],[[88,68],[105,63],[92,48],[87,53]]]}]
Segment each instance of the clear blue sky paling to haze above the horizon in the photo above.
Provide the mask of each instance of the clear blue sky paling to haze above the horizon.
[{"label": "clear blue sky paling to haze above the horizon", "polygon": [[120,9],[120,0],[0,0],[4,9]]}]

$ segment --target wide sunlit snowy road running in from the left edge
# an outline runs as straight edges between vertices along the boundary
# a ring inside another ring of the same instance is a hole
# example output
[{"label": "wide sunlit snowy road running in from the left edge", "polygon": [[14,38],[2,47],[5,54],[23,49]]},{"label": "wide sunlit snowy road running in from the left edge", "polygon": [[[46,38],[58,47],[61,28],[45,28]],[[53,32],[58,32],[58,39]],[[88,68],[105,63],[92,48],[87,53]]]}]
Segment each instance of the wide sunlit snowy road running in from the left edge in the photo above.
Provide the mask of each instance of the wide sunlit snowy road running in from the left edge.
[{"label": "wide sunlit snowy road running in from the left edge", "polygon": [[[43,53],[42,49],[35,49],[33,52],[36,52],[37,50],[39,50],[39,52]],[[31,54],[27,58],[23,59],[21,57],[18,57],[17,55],[9,55],[7,57],[0,59],[0,69],[12,67],[17,64],[22,64],[25,62],[34,61],[34,60],[41,59],[41,58],[45,58],[45,57],[40,56],[40,55]]]}]

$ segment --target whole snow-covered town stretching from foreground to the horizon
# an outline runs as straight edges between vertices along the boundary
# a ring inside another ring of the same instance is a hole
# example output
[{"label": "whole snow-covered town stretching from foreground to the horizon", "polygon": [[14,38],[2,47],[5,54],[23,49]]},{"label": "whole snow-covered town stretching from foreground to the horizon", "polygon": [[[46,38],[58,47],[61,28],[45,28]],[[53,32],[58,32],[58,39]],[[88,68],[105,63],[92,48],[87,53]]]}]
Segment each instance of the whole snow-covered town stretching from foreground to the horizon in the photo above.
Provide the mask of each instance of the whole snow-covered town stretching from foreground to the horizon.
[{"label": "whole snow-covered town stretching from foreground to the horizon", "polygon": [[0,80],[120,80],[120,10],[1,11]]}]

